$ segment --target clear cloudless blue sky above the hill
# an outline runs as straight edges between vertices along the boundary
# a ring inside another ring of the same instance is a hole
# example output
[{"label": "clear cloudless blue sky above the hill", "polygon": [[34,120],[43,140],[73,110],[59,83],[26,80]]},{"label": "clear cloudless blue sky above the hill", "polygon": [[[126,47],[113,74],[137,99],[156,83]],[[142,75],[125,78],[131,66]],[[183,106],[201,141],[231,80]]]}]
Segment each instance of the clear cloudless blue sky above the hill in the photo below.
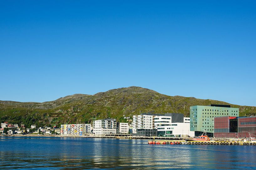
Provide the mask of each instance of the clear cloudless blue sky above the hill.
[{"label": "clear cloudless blue sky above the hill", "polygon": [[256,1],[2,1],[0,100],[141,86],[256,106]]}]

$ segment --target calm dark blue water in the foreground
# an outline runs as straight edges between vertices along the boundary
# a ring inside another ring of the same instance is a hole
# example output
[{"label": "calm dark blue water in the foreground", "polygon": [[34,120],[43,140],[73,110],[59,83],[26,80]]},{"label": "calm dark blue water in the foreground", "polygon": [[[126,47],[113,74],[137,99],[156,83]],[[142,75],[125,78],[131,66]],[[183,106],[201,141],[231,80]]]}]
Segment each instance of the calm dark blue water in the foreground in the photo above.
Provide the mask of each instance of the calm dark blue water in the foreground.
[{"label": "calm dark blue water in the foreground", "polygon": [[52,137],[2,137],[0,144],[0,169],[256,169],[255,146]]}]

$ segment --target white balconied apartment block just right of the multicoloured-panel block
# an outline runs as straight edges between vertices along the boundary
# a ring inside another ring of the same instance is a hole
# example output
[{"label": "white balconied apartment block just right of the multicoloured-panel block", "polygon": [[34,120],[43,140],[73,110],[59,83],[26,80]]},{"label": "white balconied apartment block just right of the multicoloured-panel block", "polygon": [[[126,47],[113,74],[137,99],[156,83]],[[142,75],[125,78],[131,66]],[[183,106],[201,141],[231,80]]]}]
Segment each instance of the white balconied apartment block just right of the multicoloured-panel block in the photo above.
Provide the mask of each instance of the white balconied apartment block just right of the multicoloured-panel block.
[{"label": "white balconied apartment block just right of the multicoloured-panel block", "polygon": [[117,133],[116,119],[101,119],[93,121],[93,133],[95,135],[116,134]]}]

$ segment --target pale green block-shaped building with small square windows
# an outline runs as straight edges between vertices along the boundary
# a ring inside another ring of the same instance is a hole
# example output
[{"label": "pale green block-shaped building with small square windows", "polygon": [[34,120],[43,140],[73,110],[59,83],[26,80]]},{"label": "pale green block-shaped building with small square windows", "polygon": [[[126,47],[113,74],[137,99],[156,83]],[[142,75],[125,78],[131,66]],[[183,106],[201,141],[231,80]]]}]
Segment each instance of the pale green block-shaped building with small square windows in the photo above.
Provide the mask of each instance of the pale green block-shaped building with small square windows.
[{"label": "pale green block-shaped building with small square windows", "polygon": [[230,105],[211,104],[210,106],[190,107],[190,130],[195,131],[195,136],[200,136],[206,131],[209,137],[213,137],[214,117],[216,116],[239,116],[238,108],[231,108]]}]

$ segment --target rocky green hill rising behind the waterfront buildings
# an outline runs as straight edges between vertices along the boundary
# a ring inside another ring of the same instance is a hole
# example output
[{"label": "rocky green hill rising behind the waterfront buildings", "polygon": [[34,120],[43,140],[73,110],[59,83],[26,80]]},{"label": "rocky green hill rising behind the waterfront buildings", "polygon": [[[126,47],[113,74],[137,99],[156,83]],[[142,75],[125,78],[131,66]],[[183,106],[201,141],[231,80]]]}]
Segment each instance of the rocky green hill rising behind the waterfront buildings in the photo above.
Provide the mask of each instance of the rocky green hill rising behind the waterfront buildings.
[{"label": "rocky green hill rising behind the waterfront buildings", "polygon": [[[229,104],[217,100],[194,97],[168,96],[142,87],[127,87],[100,92],[95,95],[75,94],[43,103],[0,100],[0,122],[24,123],[27,126],[91,123],[93,119],[117,118],[123,114],[177,112],[189,116],[193,105]],[[240,116],[256,114],[255,106],[240,106]]]}]

